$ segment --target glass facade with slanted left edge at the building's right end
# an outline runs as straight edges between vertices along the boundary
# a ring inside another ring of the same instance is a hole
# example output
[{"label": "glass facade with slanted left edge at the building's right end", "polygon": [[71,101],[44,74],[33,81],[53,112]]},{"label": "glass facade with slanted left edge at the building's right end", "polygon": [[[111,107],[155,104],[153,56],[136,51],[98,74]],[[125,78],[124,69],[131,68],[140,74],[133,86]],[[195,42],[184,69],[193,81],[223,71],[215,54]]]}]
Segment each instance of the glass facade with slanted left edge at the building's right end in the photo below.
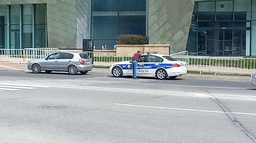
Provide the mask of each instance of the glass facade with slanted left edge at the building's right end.
[{"label": "glass facade with slanted left edge at the building's right end", "polygon": [[190,55],[256,56],[256,0],[196,2]]}]

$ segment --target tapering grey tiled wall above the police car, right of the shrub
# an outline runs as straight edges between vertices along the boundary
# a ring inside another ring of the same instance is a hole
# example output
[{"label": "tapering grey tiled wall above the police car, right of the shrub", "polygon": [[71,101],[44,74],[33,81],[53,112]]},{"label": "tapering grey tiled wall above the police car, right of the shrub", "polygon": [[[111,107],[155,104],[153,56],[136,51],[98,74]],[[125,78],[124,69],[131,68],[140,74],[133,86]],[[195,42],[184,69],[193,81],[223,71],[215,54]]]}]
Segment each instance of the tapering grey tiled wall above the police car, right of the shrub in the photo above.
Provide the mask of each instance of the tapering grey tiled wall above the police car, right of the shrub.
[{"label": "tapering grey tiled wall above the police car, right of the shrub", "polygon": [[171,53],[186,50],[194,0],[149,0],[150,44],[170,44]]}]

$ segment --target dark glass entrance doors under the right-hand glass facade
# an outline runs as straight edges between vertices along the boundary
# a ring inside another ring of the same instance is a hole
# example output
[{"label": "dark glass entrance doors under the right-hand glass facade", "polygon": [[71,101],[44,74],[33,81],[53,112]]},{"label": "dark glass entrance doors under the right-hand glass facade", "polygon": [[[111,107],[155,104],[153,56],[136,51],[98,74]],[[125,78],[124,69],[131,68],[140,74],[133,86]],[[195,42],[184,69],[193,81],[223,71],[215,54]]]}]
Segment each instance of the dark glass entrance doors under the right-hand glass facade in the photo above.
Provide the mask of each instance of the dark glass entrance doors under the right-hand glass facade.
[{"label": "dark glass entrance doors under the right-hand glass facade", "polygon": [[246,56],[246,27],[198,27],[198,55]]}]

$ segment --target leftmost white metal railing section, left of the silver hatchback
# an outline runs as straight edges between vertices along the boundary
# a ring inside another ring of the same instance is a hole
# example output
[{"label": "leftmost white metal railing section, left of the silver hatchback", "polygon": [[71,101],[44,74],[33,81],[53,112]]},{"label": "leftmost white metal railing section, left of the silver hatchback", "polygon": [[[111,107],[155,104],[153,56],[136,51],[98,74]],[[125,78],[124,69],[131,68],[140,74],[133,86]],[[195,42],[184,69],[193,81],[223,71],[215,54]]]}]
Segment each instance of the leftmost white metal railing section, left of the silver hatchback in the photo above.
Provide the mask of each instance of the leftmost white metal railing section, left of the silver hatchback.
[{"label": "leftmost white metal railing section, left of the silver hatchback", "polygon": [[0,49],[0,61],[23,61],[23,49]]}]

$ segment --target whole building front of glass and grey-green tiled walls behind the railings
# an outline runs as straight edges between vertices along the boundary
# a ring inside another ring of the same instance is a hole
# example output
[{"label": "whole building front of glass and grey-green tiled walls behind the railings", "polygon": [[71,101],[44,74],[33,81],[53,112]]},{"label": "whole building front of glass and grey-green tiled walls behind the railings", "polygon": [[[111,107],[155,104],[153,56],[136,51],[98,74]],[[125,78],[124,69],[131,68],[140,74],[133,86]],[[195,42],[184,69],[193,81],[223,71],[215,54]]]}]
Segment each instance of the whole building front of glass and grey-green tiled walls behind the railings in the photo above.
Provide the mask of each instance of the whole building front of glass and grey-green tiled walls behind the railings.
[{"label": "whole building front of glass and grey-green tiled walls behind the railings", "polygon": [[0,0],[0,49],[114,49],[141,34],[170,53],[256,56],[256,0]]}]

